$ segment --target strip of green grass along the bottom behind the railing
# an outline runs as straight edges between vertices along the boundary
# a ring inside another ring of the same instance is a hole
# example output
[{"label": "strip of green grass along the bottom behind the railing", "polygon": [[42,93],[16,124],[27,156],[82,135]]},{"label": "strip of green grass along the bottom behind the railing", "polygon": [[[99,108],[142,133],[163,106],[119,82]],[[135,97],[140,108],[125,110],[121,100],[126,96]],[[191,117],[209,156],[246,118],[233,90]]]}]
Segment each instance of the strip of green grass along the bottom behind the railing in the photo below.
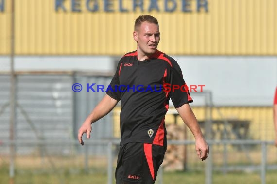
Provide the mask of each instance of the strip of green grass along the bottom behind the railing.
[{"label": "strip of green grass along the bottom behind the railing", "polygon": [[[0,168],[0,184],[9,183],[8,167]],[[267,184],[276,184],[277,174],[275,171],[268,171],[266,176]],[[16,170],[15,184],[106,184],[107,175],[104,173],[85,173],[72,170],[62,173],[49,173],[49,170]],[[114,182],[115,183],[115,182]],[[158,180],[156,182],[158,184]],[[164,172],[163,184],[205,184],[204,172]],[[230,172],[222,174],[213,173],[213,184],[261,184],[260,173]]]}]

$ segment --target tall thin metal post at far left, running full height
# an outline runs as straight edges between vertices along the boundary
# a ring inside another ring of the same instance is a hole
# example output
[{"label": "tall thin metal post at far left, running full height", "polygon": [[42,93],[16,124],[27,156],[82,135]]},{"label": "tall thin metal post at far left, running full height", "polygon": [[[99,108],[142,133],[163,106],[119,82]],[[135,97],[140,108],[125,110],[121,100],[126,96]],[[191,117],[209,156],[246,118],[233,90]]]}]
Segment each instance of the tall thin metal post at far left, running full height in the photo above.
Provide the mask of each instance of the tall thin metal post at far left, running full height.
[{"label": "tall thin metal post at far left, running full height", "polygon": [[[15,11],[14,11],[14,0],[11,0],[11,73],[10,73],[10,140],[11,142],[15,139],[15,71],[14,71],[14,55],[15,55],[15,41],[14,41],[14,33],[15,33]],[[14,159],[15,159],[15,145],[10,145],[10,184],[14,184],[14,176],[15,176],[15,166],[14,166]]]}]

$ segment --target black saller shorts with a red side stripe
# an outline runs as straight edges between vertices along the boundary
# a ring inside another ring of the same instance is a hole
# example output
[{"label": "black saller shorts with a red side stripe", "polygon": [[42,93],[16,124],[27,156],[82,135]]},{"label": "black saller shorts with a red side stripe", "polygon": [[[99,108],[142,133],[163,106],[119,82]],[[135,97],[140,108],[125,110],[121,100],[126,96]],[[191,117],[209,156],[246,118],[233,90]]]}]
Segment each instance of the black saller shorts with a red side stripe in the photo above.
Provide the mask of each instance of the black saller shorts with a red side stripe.
[{"label": "black saller shorts with a red side stripe", "polygon": [[154,184],[166,148],[155,144],[127,143],[120,146],[117,184]]}]

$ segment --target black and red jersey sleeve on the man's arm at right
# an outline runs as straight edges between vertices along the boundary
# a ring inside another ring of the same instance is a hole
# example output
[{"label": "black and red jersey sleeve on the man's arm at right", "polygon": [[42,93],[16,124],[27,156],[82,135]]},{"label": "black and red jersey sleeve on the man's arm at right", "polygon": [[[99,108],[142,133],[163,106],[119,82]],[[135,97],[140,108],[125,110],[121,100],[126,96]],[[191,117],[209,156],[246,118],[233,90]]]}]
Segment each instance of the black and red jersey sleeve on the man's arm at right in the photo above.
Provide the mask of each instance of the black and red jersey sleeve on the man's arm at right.
[{"label": "black and red jersey sleeve on the man's arm at right", "polygon": [[188,104],[193,102],[192,98],[190,97],[189,89],[183,79],[183,74],[181,71],[180,66],[177,64],[176,61],[172,62],[173,67],[171,70],[171,91],[170,91],[170,98],[173,102],[175,108],[181,107],[184,104]]}]

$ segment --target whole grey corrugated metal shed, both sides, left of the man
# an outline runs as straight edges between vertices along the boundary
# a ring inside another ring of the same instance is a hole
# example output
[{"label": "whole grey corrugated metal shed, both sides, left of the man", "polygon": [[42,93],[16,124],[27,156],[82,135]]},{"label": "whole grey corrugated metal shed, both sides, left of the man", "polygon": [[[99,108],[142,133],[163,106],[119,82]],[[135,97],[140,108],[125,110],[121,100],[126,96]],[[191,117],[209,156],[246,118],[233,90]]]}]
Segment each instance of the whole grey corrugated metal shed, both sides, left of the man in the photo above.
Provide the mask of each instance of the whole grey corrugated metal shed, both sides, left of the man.
[{"label": "whole grey corrugated metal shed, both sides, left of the man", "polygon": [[[0,75],[0,143],[9,140],[9,80]],[[17,140],[75,140],[78,128],[90,111],[102,99],[105,92],[86,92],[86,85],[96,83],[107,86],[111,77],[84,75],[24,74],[16,81],[16,126]],[[83,92],[73,92],[72,84],[81,83]],[[107,115],[92,126],[91,139],[113,138],[112,115]],[[86,140],[84,136],[84,141]],[[69,147],[48,148],[49,153],[69,153]],[[30,147],[17,148],[17,153],[32,153]],[[80,151],[84,151],[81,149]],[[0,153],[8,150],[0,150]],[[103,146],[89,148],[89,153],[103,154]]]}]

